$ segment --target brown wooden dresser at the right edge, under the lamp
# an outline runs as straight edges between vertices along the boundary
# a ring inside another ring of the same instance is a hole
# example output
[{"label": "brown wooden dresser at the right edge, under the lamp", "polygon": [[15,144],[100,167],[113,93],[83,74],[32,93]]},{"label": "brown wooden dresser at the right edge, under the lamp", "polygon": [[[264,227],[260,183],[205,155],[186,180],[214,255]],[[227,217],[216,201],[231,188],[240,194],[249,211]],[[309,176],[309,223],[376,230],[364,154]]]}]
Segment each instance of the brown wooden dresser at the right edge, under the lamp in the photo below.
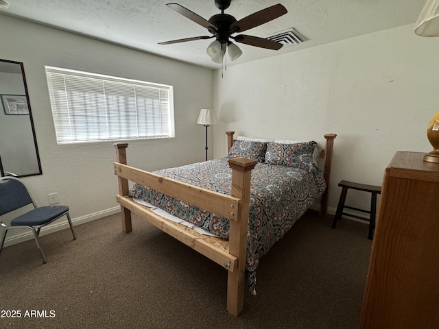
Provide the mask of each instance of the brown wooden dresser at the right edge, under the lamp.
[{"label": "brown wooden dresser at the right edge, under the lamp", "polygon": [[439,328],[439,164],[396,152],[385,169],[361,328]]}]

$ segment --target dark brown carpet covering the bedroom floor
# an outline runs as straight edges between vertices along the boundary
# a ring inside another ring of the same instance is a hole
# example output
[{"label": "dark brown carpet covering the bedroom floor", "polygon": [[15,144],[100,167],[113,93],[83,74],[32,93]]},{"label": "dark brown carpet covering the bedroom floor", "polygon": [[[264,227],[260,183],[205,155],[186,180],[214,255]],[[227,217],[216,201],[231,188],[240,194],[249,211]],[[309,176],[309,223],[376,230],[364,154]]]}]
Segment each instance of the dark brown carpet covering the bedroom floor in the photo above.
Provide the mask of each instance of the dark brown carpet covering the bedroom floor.
[{"label": "dark brown carpet covering the bedroom floor", "polygon": [[[261,259],[257,295],[226,311],[226,270],[133,215],[5,247],[0,328],[319,328],[359,324],[368,226],[309,211]],[[20,317],[12,317],[12,315]]]}]

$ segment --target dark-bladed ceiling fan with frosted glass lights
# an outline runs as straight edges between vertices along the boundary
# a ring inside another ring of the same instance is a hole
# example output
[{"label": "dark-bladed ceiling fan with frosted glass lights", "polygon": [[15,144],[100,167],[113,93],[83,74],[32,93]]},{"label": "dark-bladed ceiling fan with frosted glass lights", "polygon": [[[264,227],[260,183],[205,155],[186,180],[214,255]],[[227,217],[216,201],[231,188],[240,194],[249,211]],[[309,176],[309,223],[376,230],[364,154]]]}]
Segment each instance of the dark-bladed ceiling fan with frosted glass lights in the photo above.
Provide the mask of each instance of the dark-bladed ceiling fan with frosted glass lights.
[{"label": "dark-bladed ceiling fan with frosted glass lights", "polygon": [[272,5],[271,7],[259,10],[259,12],[254,12],[253,14],[244,17],[244,19],[237,21],[235,17],[229,14],[224,14],[224,10],[230,6],[230,2],[231,0],[215,0],[215,5],[219,10],[221,10],[221,14],[213,15],[209,21],[203,19],[198,14],[195,14],[195,12],[191,12],[191,10],[179,5],[178,3],[167,3],[166,5],[172,10],[178,12],[178,14],[185,16],[187,19],[190,19],[202,27],[206,27],[206,29],[212,35],[195,36],[193,38],[158,42],[158,45],[171,45],[178,42],[215,38],[215,41],[211,42],[209,47],[206,49],[207,54],[215,63],[222,63],[224,54],[226,53],[226,48],[228,48],[228,55],[230,56],[231,60],[236,60],[239,58],[239,56],[241,56],[241,49],[231,42],[230,39],[254,47],[273,50],[281,49],[283,45],[279,42],[259,38],[257,36],[248,36],[246,34],[238,34],[237,36],[233,36],[232,34],[244,32],[248,29],[268,23],[269,21],[277,19],[279,16],[286,14],[287,10],[283,5],[279,3],[277,5]]}]

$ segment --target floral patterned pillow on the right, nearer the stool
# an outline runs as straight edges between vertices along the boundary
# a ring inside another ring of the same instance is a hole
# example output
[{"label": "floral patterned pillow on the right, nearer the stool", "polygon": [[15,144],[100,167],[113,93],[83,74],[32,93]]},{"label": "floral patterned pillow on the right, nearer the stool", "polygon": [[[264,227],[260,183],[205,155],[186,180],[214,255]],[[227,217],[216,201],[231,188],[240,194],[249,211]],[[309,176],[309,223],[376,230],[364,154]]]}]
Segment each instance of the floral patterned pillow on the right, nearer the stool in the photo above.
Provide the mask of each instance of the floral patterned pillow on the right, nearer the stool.
[{"label": "floral patterned pillow on the right, nearer the stool", "polygon": [[267,143],[265,162],[311,171],[316,168],[313,160],[316,147],[317,143],[314,141],[294,144]]}]

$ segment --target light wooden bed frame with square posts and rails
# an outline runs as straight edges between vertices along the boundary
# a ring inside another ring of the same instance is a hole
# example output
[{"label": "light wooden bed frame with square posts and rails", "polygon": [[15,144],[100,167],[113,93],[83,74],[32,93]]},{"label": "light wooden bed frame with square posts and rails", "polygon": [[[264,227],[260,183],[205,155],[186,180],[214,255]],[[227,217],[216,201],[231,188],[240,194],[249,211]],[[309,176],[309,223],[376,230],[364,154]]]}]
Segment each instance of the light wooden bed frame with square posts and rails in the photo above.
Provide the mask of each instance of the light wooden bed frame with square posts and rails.
[{"label": "light wooden bed frame with square posts and rails", "polygon": [[[233,145],[234,132],[226,132],[228,149]],[[331,158],[333,154],[333,140],[336,134],[326,134],[326,147],[320,154],[324,158],[324,179],[329,187],[329,173],[331,171]],[[227,310],[237,316],[244,308],[244,290],[246,289],[244,273],[246,269],[246,249],[248,230],[248,209],[250,202],[250,175],[254,160],[246,158],[229,159],[232,169],[232,193],[224,195],[205,188],[178,182],[161,175],[156,175],[141,169],[129,167],[126,161],[126,147],[128,143],[115,143],[116,162],[115,174],[119,180],[119,195],[117,202],[121,205],[122,229],[131,232],[131,212],[146,219],[163,232],[174,236],[182,243],[195,249],[200,254],[210,258],[215,263],[228,270],[227,281]],[[221,215],[230,220],[229,240],[198,234],[195,230],[179,223],[174,223],[159,215],[150,208],[142,206],[128,196],[128,180],[165,193],[171,197],[198,206],[209,212]],[[327,191],[321,197],[320,215],[327,213]]]}]

